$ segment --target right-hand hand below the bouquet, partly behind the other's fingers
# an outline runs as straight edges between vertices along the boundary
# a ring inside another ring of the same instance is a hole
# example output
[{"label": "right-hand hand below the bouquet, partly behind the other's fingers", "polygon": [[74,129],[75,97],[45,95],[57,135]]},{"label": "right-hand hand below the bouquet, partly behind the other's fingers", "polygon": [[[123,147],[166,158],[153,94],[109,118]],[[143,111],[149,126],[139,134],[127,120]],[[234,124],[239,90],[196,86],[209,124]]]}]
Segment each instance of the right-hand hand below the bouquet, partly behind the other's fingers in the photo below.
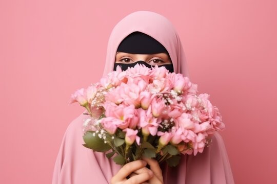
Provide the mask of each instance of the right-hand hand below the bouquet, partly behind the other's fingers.
[{"label": "right-hand hand below the bouquet, partly behind the other's fingers", "polygon": [[[160,165],[157,162],[157,160],[152,159],[152,158],[143,158],[143,160],[145,160],[147,162],[147,164],[150,166],[150,171],[152,171],[154,174],[153,177],[151,177],[147,182],[144,182],[144,183],[163,184],[164,183],[163,173],[162,173],[162,170],[161,170]],[[149,172],[149,169],[146,167],[138,169],[138,170],[134,171],[130,175],[130,177],[132,178],[132,177],[137,176],[138,174],[141,174],[144,172]]]}]

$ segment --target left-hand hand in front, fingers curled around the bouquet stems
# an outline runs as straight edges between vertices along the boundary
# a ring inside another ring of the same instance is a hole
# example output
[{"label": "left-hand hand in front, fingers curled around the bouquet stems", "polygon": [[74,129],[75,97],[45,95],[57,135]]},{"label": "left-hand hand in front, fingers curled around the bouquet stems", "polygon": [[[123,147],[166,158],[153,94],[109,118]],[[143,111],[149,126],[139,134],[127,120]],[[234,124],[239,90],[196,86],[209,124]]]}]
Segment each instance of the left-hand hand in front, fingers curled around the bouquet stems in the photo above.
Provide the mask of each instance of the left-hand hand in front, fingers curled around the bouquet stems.
[{"label": "left-hand hand in front, fingers curled around the bouquet stems", "polygon": [[[146,165],[146,160],[135,160],[126,164],[111,178],[111,184],[141,184],[146,182],[154,175],[150,169],[145,167]],[[140,170],[142,168],[146,168],[147,170]],[[140,171],[137,172],[138,170]],[[126,177],[133,172],[137,172],[137,174],[127,179]]]}]

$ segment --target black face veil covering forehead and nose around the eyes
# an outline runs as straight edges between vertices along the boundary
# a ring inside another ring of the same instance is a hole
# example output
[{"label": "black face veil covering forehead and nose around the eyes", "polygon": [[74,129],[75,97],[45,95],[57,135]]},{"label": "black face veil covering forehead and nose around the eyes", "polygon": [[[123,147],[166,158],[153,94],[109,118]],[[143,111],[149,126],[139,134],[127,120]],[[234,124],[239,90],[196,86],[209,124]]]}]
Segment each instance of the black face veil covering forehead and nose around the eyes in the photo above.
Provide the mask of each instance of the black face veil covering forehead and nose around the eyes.
[{"label": "black face veil covering forehead and nose around the eyes", "polygon": [[[151,36],[142,32],[133,32],[122,40],[117,48],[117,52],[125,52],[130,54],[157,54],[167,53],[165,47]],[[168,54],[169,55],[169,54]],[[146,63],[145,61],[137,61],[134,63],[114,63],[113,71],[116,71],[116,67],[121,66],[122,70],[127,70],[128,67],[134,67],[137,63],[144,64],[151,68],[153,65]],[[159,67],[165,66],[166,69],[173,73],[173,64],[158,65]]]}]

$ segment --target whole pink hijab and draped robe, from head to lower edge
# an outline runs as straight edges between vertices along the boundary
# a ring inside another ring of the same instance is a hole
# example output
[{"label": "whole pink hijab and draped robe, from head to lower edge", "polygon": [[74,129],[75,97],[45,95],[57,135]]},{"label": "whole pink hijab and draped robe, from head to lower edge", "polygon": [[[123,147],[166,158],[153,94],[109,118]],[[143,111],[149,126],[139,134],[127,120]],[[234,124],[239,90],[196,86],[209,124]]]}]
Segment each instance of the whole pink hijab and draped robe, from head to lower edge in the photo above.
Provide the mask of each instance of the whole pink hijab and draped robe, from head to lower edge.
[{"label": "whole pink hijab and draped robe, from head to lower edge", "polygon": [[[108,43],[103,76],[113,70],[115,53],[120,42],[134,31],[148,34],[161,42],[171,57],[174,72],[188,77],[185,54],[175,29],[165,17],[149,11],[131,13],[114,27]],[[87,111],[83,113],[85,112]],[[83,123],[89,118],[83,113],[67,127],[54,165],[52,184],[106,184],[120,170],[120,166],[107,159],[105,154],[93,152],[82,145]],[[175,168],[162,165],[164,183],[234,183],[224,141],[219,133],[213,136],[212,143],[201,154],[182,155],[179,166]]]}]

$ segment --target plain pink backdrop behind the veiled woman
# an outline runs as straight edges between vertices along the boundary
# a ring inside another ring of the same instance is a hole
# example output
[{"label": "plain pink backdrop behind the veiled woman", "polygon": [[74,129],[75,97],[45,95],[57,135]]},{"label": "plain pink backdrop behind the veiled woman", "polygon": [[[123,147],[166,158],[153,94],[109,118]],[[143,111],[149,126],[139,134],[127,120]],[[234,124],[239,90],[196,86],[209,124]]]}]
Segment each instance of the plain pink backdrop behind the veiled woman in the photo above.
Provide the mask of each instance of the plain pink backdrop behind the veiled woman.
[{"label": "plain pink backdrop behind the veiled woman", "polygon": [[137,10],[179,32],[191,81],[222,113],[235,182],[277,183],[275,2],[0,1],[0,183],[51,183],[84,110],[70,95],[100,79],[112,28]]}]

